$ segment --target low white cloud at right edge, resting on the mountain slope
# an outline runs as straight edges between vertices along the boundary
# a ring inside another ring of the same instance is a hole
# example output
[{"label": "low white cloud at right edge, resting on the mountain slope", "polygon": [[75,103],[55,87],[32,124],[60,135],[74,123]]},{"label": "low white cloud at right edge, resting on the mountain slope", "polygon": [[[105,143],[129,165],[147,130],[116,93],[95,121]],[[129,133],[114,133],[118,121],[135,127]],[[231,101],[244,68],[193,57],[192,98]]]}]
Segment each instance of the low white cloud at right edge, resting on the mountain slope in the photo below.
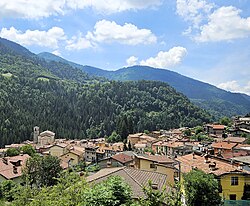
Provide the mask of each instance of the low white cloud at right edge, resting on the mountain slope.
[{"label": "low white cloud at right edge, resting on the mountain slope", "polygon": [[250,95],[250,81],[248,81],[246,85],[240,86],[236,80],[232,80],[221,83],[218,87],[227,91],[240,92]]}]

